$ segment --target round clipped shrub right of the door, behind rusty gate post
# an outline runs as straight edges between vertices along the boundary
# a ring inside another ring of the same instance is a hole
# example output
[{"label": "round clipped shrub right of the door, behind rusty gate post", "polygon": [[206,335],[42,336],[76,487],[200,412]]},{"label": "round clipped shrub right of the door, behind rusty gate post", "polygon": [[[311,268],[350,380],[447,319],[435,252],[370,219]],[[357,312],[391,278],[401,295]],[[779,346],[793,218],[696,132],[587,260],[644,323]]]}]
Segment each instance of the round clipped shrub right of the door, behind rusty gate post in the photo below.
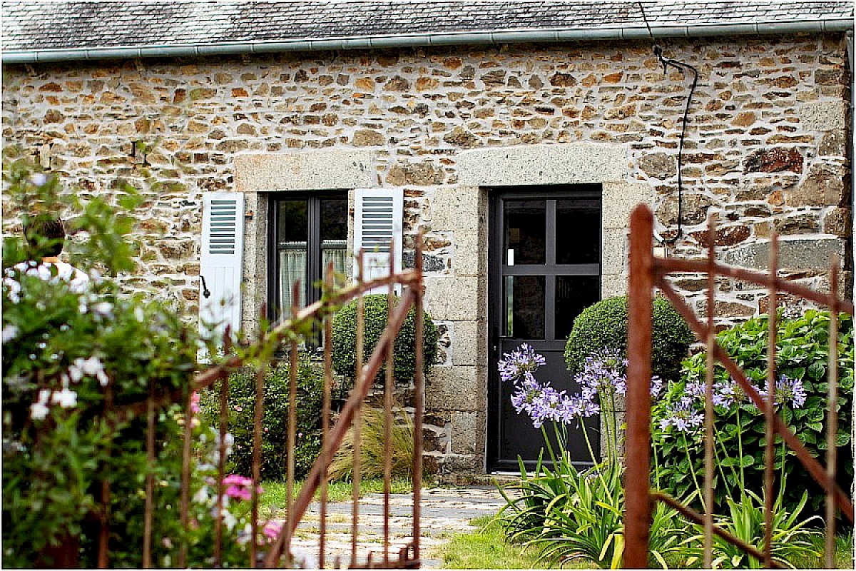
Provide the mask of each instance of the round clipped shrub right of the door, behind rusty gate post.
[{"label": "round clipped shrub right of the door, behind rusty gate post", "polygon": [[[677,378],[695,336],[666,298],[654,298],[652,311],[651,372],[663,379]],[[627,295],[598,301],[574,319],[565,345],[568,371],[580,372],[586,357],[602,348],[627,355]]]}]

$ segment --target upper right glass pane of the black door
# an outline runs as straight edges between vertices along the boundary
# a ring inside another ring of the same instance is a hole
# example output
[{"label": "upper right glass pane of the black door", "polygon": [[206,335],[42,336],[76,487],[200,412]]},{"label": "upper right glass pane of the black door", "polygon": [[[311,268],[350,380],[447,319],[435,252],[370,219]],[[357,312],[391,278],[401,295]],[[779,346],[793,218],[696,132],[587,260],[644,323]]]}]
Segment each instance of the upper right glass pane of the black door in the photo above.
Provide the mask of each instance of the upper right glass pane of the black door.
[{"label": "upper right glass pane of the black door", "polygon": [[556,264],[600,264],[600,201],[556,201]]}]

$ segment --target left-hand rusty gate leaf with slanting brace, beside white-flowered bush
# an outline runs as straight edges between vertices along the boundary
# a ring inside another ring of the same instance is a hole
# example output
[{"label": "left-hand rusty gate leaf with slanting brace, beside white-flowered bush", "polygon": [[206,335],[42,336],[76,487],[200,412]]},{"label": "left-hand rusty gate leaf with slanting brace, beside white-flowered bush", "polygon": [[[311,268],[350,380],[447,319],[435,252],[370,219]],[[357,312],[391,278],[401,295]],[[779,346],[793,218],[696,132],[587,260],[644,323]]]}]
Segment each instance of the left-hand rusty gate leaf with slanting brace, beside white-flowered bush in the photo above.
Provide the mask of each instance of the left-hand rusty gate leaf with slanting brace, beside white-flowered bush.
[{"label": "left-hand rusty gate leaf with slanting brace, beside white-flowered bush", "polygon": [[[391,250],[392,246],[390,246]],[[282,532],[271,543],[259,544],[259,531],[263,524],[259,521],[259,479],[261,475],[261,449],[262,449],[262,418],[264,413],[264,394],[265,394],[265,370],[270,366],[270,359],[265,360],[258,366],[255,377],[255,403],[253,415],[253,485],[251,491],[251,526],[252,526],[252,542],[248,550],[247,568],[257,568],[259,566],[265,568],[278,568],[282,565],[290,567],[294,565],[294,558],[291,554],[291,542],[294,538],[294,532],[300,525],[300,520],[306,514],[307,509],[312,503],[312,498],[316,492],[320,494],[319,499],[319,526],[318,526],[318,566],[320,568],[332,567],[338,568],[342,565],[341,556],[332,558],[329,556],[327,548],[327,482],[328,469],[336,450],[342,444],[343,438],[349,429],[354,430],[354,472],[353,472],[353,522],[352,522],[352,552],[350,561],[348,562],[351,568],[419,568],[419,498],[421,494],[421,476],[422,476],[422,417],[424,415],[424,399],[425,399],[425,378],[423,368],[423,306],[422,306],[422,236],[417,237],[415,249],[415,267],[406,271],[395,271],[395,267],[390,263],[389,274],[385,277],[364,280],[362,271],[363,256],[360,253],[358,257],[358,276],[354,284],[343,288],[341,291],[333,289],[333,269],[330,265],[325,273],[325,288],[324,297],[322,300],[300,309],[296,306],[296,300],[300,298],[298,295],[299,284],[294,284],[294,292],[291,299],[294,300],[294,305],[291,307],[291,318],[277,326],[272,330],[264,331],[259,339],[255,342],[258,348],[267,348],[265,354],[273,354],[272,348],[279,347],[282,342],[288,343],[288,361],[290,365],[290,386],[288,395],[288,431],[287,431],[287,499],[285,506],[285,522],[282,525]],[[395,259],[390,252],[390,259]],[[393,306],[395,296],[393,288],[396,284],[401,284],[403,294],[401,299]],[[363,296],[367,292],[375,288],[386,287],[389,291],[389,313],[388,323],[383,330],[380,340],[374,349],[371,357],[364,364],[363,360],[363,334],[364,334],[364,315],[363,315]],[[333,385],[332,373],[332,318],[333,312],[342,304],[349,300],[358,300],[358,315],[357,315],[357,366],[356,379],[354,388],[351,390],[348,400],[342,407],[339,413],[336,424],[330,426],[331,413],[331,390]],[[401,329],[407,313],[412,309],[415,310],[415,372],[413,379],[413,514],[412,514],[412,532],[409,541],[397,553],[390,553],[392,543],[390,541],[390,491],[391,491],[391,462],[392,449],[390,448],[391,430],[394,415],[392,413],[393,406],[393,389],[395,378],[393,373],[393,351],[395,344],[395,336]],[[265,319],[265,308],[262,308],[262,319]],[[309,322],[323,321],[324,329],[324,384],[323,384],[323,402],[322,402],[322,418],[321,431],[322,442],[321,451],[318,459],[315,461],[312,469],[309,472],[306,480],[300,488],[300,493],[294,493],[294,450],[296,439],[296,421],[297,421],[297,370],[299,352],[298,345],[300,337],[296,332],[302,326]],[[211,366],[193,379],[192,389],[202,390],[211,387],[217,381],[219,385],[219,406],[220,412],[218,415],[217,431],[219,433],[218,440],[218,460],[217,460],[217,501],[215,503],[214,517],[216,519],[216,528],[214,541],[212,545],[211,561],[215,567],[220,567],[223,563],[223,506],[224,497],[226,496],[225,486],[223,485],[223,477],[225,476],[225,461],[227,449],[227,431],[228,431],[228,396],[229,396],[229,374],[234,372],[241,366],[245,365],[243,354],[252,354],[252,351],[243,351],[241,354],[229,354],[229,330],[225,332],[224,353],[228,355],[223,362],[217,366]],[[366,401],[372,384],[377,375],[377,372],[382,366],[386,366],[385,384],[383,387],[383,418],[386,422],[384,426],[385,448],[383,462],[383,544],[382,553],[360,552],[357,549],[358,535],[360,532],[360,422],[362,415],[362,407]],[[186,394],[184,394],[186,393]],[[174,392],[169,394],[156,394],[154,390],[149,390],[146,401],[138,402],[130,406],[116,409],[113,406],[110,393],[110,386],[107,388],[107,396],[105,397],[104,406],[110,410],[111,415],[108,418],[126,419],[131,416],[141,416],[146,418],[146,451],[150,467],[154,464],[156,443],[156,416],[157,410],[169,403],[183,401],[183,410],[185,413],[185,423],[183,431],[183,446],[181,449],[181,497],[180,497],[180,521],[181,526],[188,529],[192,524],[188,517],[190,508],[190,477],[191,467],[193,463],[193,446],[192,446],[192,423],[190,419],[193,417],[193,405],[190,393],[187,391]],[[152,530],[154,518],[157,514],[154,513],[154,500],[158,493],[157,486],[154,485],[153,475],[150,473],[146,477],[146,502],[144,513],[144,538],[142,544],[142,565],[144,568],[151,568],[152,561],[152,545],[157,544],[163,538],[153,537]],[[110,553],[108,549],[110,538],[110,514],[107,506],[110,505],[110,485],[107,479],[104,479],[102,493],[100,497],[102,503],[101,511],[98,513],[100,527],[98,531],[98,567],[110,567]],[[68,550],[69,553],[71,549]],[[55,560],[56,561],[56,560]],[[64,561],[64,560],[61,560]],[[74,561],[69,560],[71,564]],[[181,544],[178,549],[177,566],[184,568],[188,564],[194,562],[188,561],[188,546]],[[195,562],[199,563],[199,562]]]}]

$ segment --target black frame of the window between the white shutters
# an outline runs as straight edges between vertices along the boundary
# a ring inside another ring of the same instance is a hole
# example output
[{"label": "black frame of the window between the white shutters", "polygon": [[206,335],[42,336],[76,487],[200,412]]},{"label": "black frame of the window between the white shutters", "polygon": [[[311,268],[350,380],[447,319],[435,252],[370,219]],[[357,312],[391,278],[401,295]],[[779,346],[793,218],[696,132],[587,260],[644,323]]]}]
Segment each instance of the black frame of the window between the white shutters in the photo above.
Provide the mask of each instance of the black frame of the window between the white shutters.
[{"label": "black frame of the window between the white shutters", "polygon": [[[282,318],[279,307],[279,203],[282,200],[306,200],[306,283],[301,283],[305,306],[321,298],[321,288],[315,284],[324,279],[321,267],[321,201],[324,199],[343,199],[346,204],[346,225],[348,220],[348,191],[326,190],[312,193],[279,192],[268,196],[267,212],[267,318],[275,322]],[[349,233],[349,228],[348,228]]]}]

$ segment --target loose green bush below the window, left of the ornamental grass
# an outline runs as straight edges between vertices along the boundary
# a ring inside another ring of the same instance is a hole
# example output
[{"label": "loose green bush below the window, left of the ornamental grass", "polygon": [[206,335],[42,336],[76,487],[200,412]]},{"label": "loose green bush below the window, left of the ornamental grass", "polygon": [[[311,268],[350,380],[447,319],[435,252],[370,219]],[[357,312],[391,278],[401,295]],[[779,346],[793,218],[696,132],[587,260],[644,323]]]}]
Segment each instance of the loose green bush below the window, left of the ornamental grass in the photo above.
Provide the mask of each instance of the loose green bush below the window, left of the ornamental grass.
[{"label": "loose green bush below the window, left of the ornamental grass", "polygon": [[[265,374],[264,414],[262,415],[262,479],[285,479],[288,467],[288,395],[290,366],[287,361]],[[321,446],[321,401],[324,373],[301,355],[297,365],[297,428],[294,449],[295,478],[312,467]],[[229,433],[235,438],[229,456],[230,473],[253,473],[253,430],[256,401],[256,372],[245,368],[229,376]],[[202,416],[217,426],[220,418],[220,383],[199,395]]]}]

